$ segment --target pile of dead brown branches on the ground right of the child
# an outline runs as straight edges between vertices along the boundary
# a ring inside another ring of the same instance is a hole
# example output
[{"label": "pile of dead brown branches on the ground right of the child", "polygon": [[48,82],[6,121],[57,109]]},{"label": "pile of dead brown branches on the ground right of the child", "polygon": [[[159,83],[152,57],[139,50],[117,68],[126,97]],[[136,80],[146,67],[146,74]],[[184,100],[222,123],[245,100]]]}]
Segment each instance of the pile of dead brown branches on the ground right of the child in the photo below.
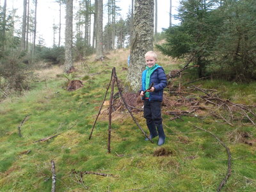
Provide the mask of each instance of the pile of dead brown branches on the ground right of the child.
[{"label": "pile of dead brown branches on the ground right of the child", "polygon": [[175,100],[174,107],[182,106],[183,108],[183,110],[175,108],[173,111],[166,111],[167,114],[173,115],[171,120],[180,118],[182,115],[200,118],[214,116],[230,126],[234,126],[235,122],[255,125],[256,106],[237,104],[228,99],[221,99],[217,90],[204,89],[200,86],[191,86],[182,88],[182,90],[172,87],[170,94],[175,95],[172,97]]}]

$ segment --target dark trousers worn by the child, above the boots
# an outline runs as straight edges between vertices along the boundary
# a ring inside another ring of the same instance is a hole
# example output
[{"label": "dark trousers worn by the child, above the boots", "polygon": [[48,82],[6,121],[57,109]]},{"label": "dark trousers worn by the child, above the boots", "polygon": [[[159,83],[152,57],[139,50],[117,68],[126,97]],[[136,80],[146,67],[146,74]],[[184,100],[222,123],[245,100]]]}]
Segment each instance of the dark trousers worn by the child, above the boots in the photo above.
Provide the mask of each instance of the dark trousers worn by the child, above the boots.
[{"label": "dark trousers worn by the child, above the boots", "polygon": [[146,119],[147,124],[161,125],[161,101],[158,100],[144,100],[144,118]]}]

